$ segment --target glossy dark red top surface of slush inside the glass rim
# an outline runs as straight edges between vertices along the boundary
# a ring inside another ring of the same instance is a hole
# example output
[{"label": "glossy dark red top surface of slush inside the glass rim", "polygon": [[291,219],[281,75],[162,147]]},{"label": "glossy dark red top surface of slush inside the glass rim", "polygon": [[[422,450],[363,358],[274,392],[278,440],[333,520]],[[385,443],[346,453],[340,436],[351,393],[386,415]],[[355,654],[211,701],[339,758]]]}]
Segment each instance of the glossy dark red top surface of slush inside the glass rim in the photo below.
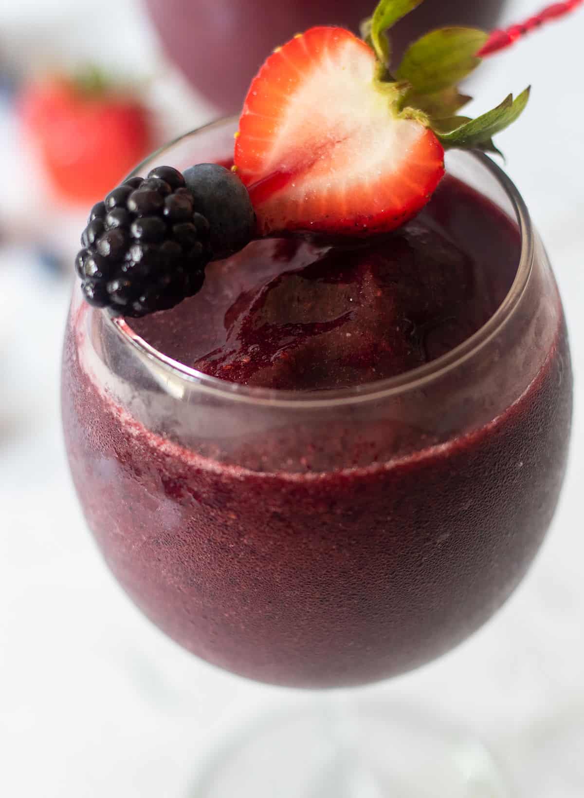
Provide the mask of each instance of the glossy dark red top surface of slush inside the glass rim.
[{"label": "glossy dark red top surface of slush inside the glass rim", "polygon": [[511,287],[518,232],[476,198],[447,177],[392,235],[253,242],[211,263],[194,298],[131,326],[174,360],[243,385],[339,389],[404,373],[476,332]]}]

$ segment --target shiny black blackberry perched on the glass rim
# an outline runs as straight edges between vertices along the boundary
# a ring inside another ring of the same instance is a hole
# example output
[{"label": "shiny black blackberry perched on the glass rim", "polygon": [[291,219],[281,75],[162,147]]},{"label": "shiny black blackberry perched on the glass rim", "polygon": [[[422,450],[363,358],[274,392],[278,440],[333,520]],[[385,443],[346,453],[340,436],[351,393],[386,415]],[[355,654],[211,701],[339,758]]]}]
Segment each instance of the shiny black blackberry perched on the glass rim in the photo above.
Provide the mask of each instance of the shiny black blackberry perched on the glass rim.
[{"label": "shiny black blackberry perched on the glass rim", "polygon": [[[92,207],[75,261],[89,304],[136,317],[200,290],[211,258],[209,224],[190,194],[175,195],[184,180],[169,170],[132,177]],[[175,233],[181,225],[187,232]]]}]

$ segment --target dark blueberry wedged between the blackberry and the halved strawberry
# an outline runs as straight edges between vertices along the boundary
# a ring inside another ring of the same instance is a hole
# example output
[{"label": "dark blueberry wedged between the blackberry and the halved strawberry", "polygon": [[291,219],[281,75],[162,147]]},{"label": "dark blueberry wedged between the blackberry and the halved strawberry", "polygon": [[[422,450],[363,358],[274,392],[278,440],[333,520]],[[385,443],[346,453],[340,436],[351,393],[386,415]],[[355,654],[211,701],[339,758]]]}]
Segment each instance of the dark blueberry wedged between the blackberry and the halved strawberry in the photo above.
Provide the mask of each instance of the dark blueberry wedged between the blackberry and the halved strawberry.
[{"label": "dark blueberry wedged between the blackberry and the halved strawberry", "polygon": [[249,243],[255,214],[244,184],[218,164],[198,164],[184,172],[194,208],[210,223],[210,243],[215,258],[225,258]]}]

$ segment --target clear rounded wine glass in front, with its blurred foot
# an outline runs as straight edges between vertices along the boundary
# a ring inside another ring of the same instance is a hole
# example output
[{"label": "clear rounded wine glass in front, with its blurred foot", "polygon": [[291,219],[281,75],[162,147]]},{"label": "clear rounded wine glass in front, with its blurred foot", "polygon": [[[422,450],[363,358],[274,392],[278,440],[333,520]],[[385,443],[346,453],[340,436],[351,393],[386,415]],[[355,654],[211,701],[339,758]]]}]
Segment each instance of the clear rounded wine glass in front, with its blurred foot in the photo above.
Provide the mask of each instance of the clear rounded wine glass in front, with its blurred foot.
[{"label": "clear rounded wine glass in front, with its blurred foot", "polygon": [[[190,132],[136,174],[227,163],[235,129]],[[62,403],[84,515],[131,599],[217,666],[296,687],[390,678],[467,638],[539,549],[570,433],[562,305],[504,172],[468,152],[447,170],[516,226],[516,275],[480,330],[398,377],[314,393],[221,381],[74,290]],[[376,701],[315,706],[245,733],[197,794],[508,794],[456,732]]]}]

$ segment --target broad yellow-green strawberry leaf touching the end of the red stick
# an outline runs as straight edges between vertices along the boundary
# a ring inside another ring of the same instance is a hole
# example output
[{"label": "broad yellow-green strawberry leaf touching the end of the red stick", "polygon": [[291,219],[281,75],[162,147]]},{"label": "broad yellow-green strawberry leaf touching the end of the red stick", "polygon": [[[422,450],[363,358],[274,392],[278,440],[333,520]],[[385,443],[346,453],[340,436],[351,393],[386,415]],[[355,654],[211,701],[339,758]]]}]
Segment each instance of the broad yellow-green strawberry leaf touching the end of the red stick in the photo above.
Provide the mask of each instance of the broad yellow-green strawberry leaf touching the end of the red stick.
[{"label": "broad yellow-green strawberry leaf touching the end of the red stick", "polygon": [[433,94],[457,85],[480,64],[475,53],[488,34],[477,28],[441,28],[425,34],[406,50],[396,77],[417,93]]}]

